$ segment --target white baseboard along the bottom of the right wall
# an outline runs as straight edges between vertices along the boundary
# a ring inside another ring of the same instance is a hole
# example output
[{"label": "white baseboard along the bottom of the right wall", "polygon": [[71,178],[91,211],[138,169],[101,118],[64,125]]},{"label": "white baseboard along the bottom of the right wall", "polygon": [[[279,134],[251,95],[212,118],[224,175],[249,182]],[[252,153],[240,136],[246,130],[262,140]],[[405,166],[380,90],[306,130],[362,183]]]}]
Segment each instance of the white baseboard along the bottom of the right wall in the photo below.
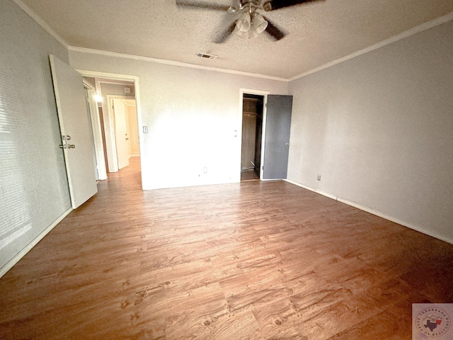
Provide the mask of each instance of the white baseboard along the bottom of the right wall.
[{"label": "white baseboard along the bottom of the right wall", "polygon": [[416,232],[421,232],[422,234],[428,235],[430,237],[435,237],[436,239],[440,239],[441,241],[448,242],[449,244],[453,244],[453,239],[450,239],[449,237],[445,237],[445,236],[436,234],[435,232],[427,231],[425,229],[422,229],[420,227],[412,225],[411,223],[408,223],[406,221],[399,220],[396,217],[386,215],[386,214],[384,214],[382,212],[379,212],[377,210],[369,208],[369,207],[367,207],[365,205],[361,205],[360,203],[355,203],[355,202],[352,202],[350,200],[345,200],[343,198],[339,198],[339,197],[337,197],[335,195],[332,195],[331,193],[325,193],[323,191],[316,190],[315,188],[310,188],[309,186],[304,186],[301,183],[297,183],[297,182],[294,182],[294,181],[289,181],[288,179],[285,179],[284,181],[287,181],[288,183],[294,184],[294,186],[300,186],[301,188],[304,188],[306,190],[313,191],[315,193],[319,193],[320,195],[326,196],[326,197],[331,198],[333,200],[338,200],[338,202],[345,203],[347,205],[350,205],[351,207],[354,207],[354,208],[369,212],[370,214],[382,217],[385,220],[389,220],[391,222],[398,223],[398,225],[402,225],[403,227],[408,227],[409,229],[413,229]]}]

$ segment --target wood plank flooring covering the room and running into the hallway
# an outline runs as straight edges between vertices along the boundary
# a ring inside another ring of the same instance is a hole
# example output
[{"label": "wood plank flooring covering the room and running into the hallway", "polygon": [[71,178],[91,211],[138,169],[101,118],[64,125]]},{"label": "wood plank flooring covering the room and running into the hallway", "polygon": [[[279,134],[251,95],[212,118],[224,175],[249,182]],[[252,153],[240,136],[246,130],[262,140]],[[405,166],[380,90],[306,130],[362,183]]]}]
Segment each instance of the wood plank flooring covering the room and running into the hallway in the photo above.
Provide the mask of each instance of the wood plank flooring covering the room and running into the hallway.
[{"label": "wood plank flooring covering the room and running into the hallway", "polygon": [[284,181],[142,191],[138,162],[0,279],[0,339],[411,339],[453,245]]}]

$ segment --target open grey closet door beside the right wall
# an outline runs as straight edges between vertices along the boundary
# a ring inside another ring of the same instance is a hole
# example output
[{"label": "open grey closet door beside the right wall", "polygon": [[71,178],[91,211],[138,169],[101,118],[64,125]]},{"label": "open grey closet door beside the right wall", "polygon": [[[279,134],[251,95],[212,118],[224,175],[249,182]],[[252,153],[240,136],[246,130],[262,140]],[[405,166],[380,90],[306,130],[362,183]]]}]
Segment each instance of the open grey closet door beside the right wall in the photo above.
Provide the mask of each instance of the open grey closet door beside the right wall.
[{"label": "open grey closet door beside the right wall", "polygon": [[292,96],[268,95],[263,179],[286,179]]}]

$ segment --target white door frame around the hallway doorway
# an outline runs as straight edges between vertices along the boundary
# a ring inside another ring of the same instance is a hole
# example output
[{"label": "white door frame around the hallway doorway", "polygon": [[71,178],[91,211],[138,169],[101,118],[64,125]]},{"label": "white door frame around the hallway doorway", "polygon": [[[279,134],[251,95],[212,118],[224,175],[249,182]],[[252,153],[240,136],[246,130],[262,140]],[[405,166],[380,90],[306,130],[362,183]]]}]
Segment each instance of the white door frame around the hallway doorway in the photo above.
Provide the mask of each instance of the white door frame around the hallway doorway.
[{"label": "white door frame around the hallway doorway", "polygon": [[[136,104],[136,111],[137,111],[137,129],[139,132],[139,150],[140,156],[144,154],[144,146],[142,143],[142,135],[143,131],[140,129],[142,126],[142,103],[140,98],[140,86],[139,86],[139,77],[132,76],[130,74],[116,74],[116,73],[108,73],[108,72],[97,72],[97,71],[88,71],[86,69],[76,69],[84,77],[92,77],[92,78],[104,78],[104,79],[111,79],[111,80],[118,80],[118,81],[134,81],[134,90],[135,90],[135,104]],[[105,114],[105,113],[104,113]],[[101,126],[99,126],[101,128]],[[143,162],[140,162],[140,168],[142,172],[142,190],[143,190]]]}]

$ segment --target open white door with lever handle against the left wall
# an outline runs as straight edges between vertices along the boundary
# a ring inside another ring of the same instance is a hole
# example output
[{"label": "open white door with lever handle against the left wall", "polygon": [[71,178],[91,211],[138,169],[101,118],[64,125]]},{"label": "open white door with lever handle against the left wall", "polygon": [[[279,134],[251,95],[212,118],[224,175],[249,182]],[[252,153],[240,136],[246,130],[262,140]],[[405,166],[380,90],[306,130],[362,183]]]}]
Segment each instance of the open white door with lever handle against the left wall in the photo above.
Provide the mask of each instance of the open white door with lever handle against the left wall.
[{"label": "open white door with lever handle against the left wall", "polygon": [[93,164],[93,136],[88,123],[81,74],[50,55],[55,99],[72,208],[78,208],[97,191]]}]

